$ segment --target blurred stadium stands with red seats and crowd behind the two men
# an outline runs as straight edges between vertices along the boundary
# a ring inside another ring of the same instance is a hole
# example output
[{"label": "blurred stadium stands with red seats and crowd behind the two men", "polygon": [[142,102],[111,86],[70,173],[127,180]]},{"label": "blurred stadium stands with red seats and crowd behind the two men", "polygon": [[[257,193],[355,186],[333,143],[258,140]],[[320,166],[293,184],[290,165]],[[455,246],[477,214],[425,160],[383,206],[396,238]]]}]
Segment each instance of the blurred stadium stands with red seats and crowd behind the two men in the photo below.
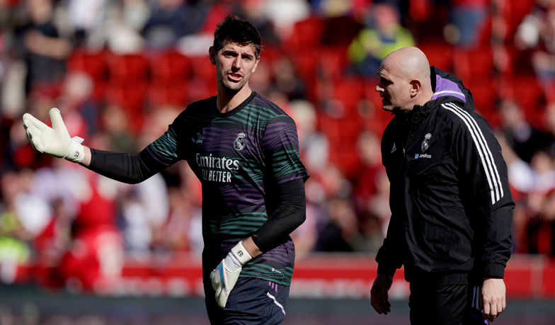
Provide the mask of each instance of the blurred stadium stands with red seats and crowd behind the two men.
[{"label": "blurred stadium stands with red seats and crowd behind the two men", "polygon": [[135,153],[214,96],[228,13],[265,48],[253,89],[297,122],[311,173],[287,324],[407,324],[367,301],[389,221],[379,61],[416,45],[459,76],[509,166],[515,255],[496,324],[555,321],[553,1],[0,1],[0,324],[207,324],[200,189],[185,163],[124,186],[33,151],[21,127],[58,107],[72,136]]}]

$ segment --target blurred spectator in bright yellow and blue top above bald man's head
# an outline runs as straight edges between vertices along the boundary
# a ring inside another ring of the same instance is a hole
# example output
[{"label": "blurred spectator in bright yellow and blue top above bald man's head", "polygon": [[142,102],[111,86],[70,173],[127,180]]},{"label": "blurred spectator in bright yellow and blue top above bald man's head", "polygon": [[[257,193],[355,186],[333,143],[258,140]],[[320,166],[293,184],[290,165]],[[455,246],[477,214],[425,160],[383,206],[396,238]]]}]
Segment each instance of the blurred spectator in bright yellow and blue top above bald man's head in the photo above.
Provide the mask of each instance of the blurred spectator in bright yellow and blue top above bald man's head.
[{"label": "blurred spectator in bright yellow and blue top above bald man's head", "polygon": [[351,42],[348,55],[354,73],[374,77],[386,55],[401,47],[414,46],[414,39],[401,25],[394,6],[376,4],[369,13],[365,17],[365,28]]}]

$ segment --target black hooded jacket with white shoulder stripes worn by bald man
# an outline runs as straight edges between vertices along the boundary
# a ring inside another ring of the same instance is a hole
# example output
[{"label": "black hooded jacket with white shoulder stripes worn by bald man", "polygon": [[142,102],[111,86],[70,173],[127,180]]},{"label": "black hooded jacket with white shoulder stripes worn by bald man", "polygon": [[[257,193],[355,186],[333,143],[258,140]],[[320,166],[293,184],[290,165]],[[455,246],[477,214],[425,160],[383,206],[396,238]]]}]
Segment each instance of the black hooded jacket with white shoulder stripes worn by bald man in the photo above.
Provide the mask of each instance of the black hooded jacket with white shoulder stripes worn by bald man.
[{"label": "black hooded jacket with white shoulder stripes worn by bald man", "polygon": [[404,265],[413,282],[503,278],[515,203],[501,148],[462,81],[431,72],[432,99],[395,116],[382,138],[391,220],[378,273]]}]

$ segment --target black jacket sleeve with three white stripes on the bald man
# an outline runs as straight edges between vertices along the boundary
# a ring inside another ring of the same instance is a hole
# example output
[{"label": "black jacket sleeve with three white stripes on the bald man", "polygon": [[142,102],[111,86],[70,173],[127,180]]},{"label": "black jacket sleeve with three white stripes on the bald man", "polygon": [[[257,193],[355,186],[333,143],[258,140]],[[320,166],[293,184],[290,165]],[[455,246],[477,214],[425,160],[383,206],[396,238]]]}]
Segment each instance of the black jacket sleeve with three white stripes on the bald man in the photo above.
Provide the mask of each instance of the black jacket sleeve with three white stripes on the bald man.
[{"label": "black jacket sleeve with three white stripes on the bald man", "polygon": [[461,123],[454,129],[459,179],[467,216],[475,231],[475,249],[484,277],[503,278],[513,249],[513,210],[508,172],[501,148],[484,118],[453,107]]}]

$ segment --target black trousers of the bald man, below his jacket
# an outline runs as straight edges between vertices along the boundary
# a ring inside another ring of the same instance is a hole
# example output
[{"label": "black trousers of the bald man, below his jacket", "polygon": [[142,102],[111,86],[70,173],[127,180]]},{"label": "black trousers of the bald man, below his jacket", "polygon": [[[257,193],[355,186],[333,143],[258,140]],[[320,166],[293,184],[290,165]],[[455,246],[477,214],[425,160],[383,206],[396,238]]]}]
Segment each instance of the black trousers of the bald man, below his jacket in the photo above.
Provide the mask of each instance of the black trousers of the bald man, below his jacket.
[{"label": "black trousers of the bald man, below his jacket", "polygon": [[474,285],[411,284],[411,324],[489,324],[478,309],[479,292]]}]

